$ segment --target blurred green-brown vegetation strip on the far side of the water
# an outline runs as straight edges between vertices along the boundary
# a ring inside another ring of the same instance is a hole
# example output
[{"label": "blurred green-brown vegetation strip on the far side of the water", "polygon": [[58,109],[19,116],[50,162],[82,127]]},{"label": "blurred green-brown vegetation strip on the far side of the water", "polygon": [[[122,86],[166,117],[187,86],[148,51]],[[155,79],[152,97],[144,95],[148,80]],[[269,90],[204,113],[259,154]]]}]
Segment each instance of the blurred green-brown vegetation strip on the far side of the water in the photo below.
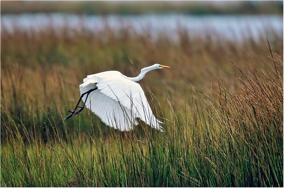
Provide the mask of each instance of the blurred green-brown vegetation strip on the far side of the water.
[{"label": "blurred green-brown vegetation strip on the far side of the water", "polygon": [[1,1],[1,14],[283,14],[283,1]]}]

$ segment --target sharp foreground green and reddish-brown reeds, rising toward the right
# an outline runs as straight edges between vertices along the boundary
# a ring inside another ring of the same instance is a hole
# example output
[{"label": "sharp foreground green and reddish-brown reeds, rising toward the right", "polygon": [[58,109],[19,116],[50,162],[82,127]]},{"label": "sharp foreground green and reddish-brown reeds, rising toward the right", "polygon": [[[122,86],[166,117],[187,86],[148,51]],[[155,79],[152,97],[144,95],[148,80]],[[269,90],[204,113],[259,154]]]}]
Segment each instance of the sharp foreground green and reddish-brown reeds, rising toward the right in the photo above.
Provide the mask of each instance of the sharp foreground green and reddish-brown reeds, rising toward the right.
[{"label": "sharp foreground green and reddish-brown reeds, rising toward the right", "polygon": [[283,186],[281,64],[277,73],[247,69],[233,90],[216,83],[218,97],[195,89],[204,103],[193,99],[186,113],[171,106],[163,133],[142,126],[143,136],[110,130],[90,142],[64,124],[69,140],[55,134],[44,144],[24,130],[27,145],[13,124],[1,178],[17,186]]}]

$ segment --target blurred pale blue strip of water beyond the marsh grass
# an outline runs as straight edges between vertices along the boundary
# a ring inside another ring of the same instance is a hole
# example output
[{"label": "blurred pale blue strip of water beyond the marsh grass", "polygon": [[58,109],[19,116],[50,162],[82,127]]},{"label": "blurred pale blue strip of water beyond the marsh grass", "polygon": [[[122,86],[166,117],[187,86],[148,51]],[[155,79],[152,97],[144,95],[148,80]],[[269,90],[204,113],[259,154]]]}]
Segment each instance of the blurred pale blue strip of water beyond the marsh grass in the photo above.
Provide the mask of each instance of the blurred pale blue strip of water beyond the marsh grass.
[{"label": "blurred pale blue strip of water beyond the marsh grass", "polygon": [[268,36],[271,32],[283,36],[283,16],[278,15],[205,15],[184,14],[146,14],[131,16],[97,16],[72,14],[21,14],[1,16],[1,31],[5,28],[14,31],[14,26],[22,30],[40,31],[47,28],[58,30],[88,29],[92,32],[103,31],[106,25],[112,30],[133,28],[137,33],[147,32],[155,39],[164,34],[177,39],[177,31],[187,30],[190,36],[214,35],[232,40],[254,39]]}]

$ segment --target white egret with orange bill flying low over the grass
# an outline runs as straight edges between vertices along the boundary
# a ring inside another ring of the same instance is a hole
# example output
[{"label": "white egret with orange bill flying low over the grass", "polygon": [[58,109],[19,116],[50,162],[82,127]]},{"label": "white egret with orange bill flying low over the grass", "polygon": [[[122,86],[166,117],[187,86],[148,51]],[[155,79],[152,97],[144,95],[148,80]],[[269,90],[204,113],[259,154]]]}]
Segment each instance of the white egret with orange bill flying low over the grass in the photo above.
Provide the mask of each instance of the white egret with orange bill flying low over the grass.
[{"label": "white egret with orange bill flying low over the grass", "polygon": [[[136,83],[146,73],[154,69],[170,68],[168,66],[153,64],[141,69],[141,73],[134,77],[127,77],[119,71],[105,71],[93,75],[87,75],[79,86],[81,97],[75,109],[70,111],[69,119],[86,108],[95,113],[103,123],[119,129],[129,131],[138,124],[140,118],[152,128],[163,131],[160,124],[163,122],[155,118],[146,99],[142,87]],[[83,100],[82,107],[78,106]],[[76,111],[77,108],[80,108]]]}]

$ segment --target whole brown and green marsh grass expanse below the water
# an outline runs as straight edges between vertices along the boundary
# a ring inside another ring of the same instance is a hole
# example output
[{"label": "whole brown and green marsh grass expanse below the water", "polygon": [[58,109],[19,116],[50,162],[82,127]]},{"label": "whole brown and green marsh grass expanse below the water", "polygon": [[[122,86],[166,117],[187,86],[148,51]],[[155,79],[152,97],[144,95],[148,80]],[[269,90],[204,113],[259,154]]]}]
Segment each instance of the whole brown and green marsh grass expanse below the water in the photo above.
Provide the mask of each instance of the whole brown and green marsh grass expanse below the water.
[{"label": "whole brown and green marsh grass expanse below the water", "polygon": [[[1,186],[283,186],[283,39],[16,31],[1,31]],[[86,75],[135,76],[129,58],[173,67],[140,83],[163,133],[62,120]]]}]

